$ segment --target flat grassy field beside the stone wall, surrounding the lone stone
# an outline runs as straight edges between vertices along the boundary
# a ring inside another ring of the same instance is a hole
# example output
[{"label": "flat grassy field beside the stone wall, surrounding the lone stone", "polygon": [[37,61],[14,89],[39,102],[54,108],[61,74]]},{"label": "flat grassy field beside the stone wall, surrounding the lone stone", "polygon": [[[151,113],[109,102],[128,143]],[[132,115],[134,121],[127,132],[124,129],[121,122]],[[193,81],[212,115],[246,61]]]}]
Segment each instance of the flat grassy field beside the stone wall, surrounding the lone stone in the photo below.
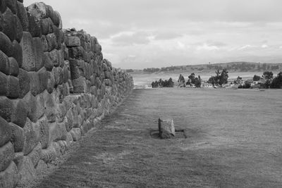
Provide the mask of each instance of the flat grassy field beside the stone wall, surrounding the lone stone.
[{"label": "flat grassy field beside the stone wall, surrounding the lone stone", "polygon": [[[281,96],[135,89],[32,186],[282,187]],[[188,138],[151,137],[159,117],[173,118]]]}]

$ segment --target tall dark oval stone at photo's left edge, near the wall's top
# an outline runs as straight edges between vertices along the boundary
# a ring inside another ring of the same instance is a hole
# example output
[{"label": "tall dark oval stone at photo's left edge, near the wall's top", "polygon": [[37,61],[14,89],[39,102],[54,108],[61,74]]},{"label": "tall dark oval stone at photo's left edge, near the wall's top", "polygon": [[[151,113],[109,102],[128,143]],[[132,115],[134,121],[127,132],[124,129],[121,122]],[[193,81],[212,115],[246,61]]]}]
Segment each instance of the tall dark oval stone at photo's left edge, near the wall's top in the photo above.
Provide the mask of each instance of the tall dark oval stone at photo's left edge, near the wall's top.
[{"label": "tall dark oval stone at photo's left edge, near the wall's top", "polygon": [[6,9],[3,18],[3,32],[13,41],[16,39],[16,20],[10,8]]}]

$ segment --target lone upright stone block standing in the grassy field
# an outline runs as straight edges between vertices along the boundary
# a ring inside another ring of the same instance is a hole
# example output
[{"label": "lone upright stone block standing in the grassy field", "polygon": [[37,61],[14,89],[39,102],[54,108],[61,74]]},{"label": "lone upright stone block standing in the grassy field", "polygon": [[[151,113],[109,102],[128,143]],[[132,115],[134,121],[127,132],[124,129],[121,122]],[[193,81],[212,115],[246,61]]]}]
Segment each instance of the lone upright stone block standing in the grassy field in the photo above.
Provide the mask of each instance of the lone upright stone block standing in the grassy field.
[{"label": "lone upright stone block standing in the grassy field", "polygon": [[174,128],[173,119],[161,120],[159,118],[159,137],[161,139],[170,139],[171,136],[175,136],[176,131]]}]

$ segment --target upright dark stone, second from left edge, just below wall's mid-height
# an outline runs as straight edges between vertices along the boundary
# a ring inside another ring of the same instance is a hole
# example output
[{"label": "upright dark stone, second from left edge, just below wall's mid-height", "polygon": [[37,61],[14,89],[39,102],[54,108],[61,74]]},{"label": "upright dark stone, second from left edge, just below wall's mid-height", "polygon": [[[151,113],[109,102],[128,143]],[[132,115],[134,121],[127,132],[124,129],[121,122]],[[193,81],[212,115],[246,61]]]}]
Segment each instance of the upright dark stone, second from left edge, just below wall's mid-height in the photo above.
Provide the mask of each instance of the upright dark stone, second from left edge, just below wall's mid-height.
[{"label": "upright dark stone, second from left edge, just below wall's mid-height", "polygon": [[27,105],[22,99],[13,100],[13,113],[11,115],[11,122],[20,127],[25,126],[27,119]]}]

